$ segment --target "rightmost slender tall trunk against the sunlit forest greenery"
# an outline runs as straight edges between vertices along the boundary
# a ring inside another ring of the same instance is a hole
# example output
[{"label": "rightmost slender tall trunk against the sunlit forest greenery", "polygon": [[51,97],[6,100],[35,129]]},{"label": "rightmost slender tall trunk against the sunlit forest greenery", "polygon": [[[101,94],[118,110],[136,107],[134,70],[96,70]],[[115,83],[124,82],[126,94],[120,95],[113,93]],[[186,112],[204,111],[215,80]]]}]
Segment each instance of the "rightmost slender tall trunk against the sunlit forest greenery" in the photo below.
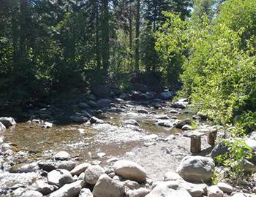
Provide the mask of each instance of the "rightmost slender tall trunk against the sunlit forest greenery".
[{"label": "rightmost slender tall trunk against the sunlit forest greenery", "polygon": [[140,72],[140,0],[136,6],[136,38],[135,38],[135,72]]}]

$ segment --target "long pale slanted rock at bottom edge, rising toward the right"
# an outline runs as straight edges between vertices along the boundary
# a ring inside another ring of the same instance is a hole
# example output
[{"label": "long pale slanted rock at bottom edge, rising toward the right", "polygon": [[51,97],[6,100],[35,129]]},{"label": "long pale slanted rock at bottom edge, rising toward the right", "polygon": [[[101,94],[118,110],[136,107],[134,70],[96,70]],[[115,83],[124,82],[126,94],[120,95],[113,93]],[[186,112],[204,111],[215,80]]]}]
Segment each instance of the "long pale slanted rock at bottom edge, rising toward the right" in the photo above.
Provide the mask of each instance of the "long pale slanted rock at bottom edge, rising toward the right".
[{"label": "long pale slanted rock at bottom edge, rising toward the right", "polygon": [[78,196],[82,188],[83,181],[72,182],[51,193],[49,197],[75,197]]}]

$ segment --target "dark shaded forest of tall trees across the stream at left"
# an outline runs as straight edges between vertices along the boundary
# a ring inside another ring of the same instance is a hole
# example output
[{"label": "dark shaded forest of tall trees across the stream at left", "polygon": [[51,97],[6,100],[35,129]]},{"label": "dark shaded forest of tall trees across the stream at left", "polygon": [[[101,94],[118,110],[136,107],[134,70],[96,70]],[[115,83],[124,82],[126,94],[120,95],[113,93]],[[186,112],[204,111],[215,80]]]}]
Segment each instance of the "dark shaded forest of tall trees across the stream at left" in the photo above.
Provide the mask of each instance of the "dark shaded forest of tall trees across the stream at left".
[{"label": "dark shaded forest of tall trees across the stream at left", "polygon": [[0,0],[1,98],[31,99],[106,76],[158,72],[154,31],[181,0]]}]

